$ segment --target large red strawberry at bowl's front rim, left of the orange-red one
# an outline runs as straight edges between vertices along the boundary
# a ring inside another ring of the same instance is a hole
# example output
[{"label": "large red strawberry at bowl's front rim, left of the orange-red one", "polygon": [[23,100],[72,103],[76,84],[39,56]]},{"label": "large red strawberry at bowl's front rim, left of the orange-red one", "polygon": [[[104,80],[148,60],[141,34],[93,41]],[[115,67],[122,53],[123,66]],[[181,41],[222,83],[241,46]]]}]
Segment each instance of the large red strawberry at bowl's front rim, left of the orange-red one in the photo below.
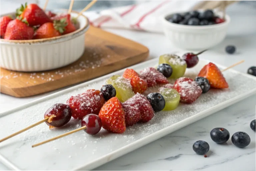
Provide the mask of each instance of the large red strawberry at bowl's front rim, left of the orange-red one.
[{"label": "large red strawberry at bowl's front rim, left of the orange-red one", "polygon": [[30,40],[33,38],[34,29],[26,23],[15,19],[8,23],[4,39],[7,40]]}]

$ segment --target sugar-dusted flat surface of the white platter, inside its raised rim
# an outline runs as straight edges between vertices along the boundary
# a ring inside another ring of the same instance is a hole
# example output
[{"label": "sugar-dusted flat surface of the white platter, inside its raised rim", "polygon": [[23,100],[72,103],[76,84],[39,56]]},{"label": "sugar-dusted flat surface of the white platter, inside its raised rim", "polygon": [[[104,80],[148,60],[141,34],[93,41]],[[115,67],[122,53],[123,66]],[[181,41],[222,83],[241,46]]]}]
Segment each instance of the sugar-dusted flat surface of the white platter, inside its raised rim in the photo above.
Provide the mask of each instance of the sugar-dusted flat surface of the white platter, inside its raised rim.
[{"label": "sugar-dusted flat surface of the white platter, inside its raised rim", "polygon": [[[151,62],[137,65],[134,69],[138,72],[145,67],[154,66],[155,63],[157,63],[157,60],[152,60]],[[187,70],[186,76],[189,75],[193,79],[206,63],[203,60],[199,61],[195,68]],[[118,74],[122,75],[122,72],[118,72]],[[243,74],[225,71],[224,76],[230,85],[228,89],[212,89],[208,93],[202,94],[192,104],[180,103],[178,108],[173,111],[155,113],[150,122],[128,127],[123,134],[108,133],[103,128],[95,136],[90,136],[84,131],[80,131],[48,144],[31,148],[31,145],[35,143],[79,128],[80,121],[71,119],[62,128],[49,130],[46,124],[41,124],[17,135],[0,144],[0,154],[5,159],[12,161],[21,170],[36,168],[42,170],[75,170],[85,165],[84,170],[87,170],[88,168],[96,167],[93,161],[100,157],[106,156],[106,161],[107,158],[112,159],[108,155],[122,147],[136,143],[136,141],[152,133],[255,89],[255,80]],[[0,132],[0,137],[5,137],[43,119],[44,112],[55,103],[65,103],[70,96],[82,93],[87,89],[100,89],[105,80],[106,78],[100,79],[90,85],[82,84],[75,90],[65,90],[59,96],[51,97],[43,102],[0,117],[0,124],[5,129],[5,131]],[[244,82],[247,84],[244,84]],[[150,88],[151,91],[158,91],[158,89],[159,87]]]}]

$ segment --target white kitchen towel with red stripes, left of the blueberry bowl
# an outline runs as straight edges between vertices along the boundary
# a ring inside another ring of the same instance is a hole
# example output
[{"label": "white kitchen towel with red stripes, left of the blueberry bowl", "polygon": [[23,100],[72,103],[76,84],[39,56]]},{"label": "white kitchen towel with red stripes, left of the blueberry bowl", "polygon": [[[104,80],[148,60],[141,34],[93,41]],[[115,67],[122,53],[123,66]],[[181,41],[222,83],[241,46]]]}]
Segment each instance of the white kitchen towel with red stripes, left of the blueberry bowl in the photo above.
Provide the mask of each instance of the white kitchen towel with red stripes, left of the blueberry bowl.
[{"label": "white kitchen towel with red stripes, left of the blueberry bowl", "polygon": [[148,32],[162,32],[160,17],[192,9],[200,0],[157,0],[131,6],[90,11],[84,15],[95,27],[136,29]]}]

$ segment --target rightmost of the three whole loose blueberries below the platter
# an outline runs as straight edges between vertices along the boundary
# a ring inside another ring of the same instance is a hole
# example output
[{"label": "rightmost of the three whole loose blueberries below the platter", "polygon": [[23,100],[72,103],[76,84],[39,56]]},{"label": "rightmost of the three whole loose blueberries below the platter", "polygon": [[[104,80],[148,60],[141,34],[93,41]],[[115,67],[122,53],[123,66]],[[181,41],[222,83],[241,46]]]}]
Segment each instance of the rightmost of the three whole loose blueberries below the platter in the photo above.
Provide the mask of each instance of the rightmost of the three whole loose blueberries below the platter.
[{"label": "rightmost of the three whole loose blueberries below the platter", "polygon": [[250,144],[251,138],[245,132],[236,132],[232,135],[231,141],[237,147],[246,147]]}]

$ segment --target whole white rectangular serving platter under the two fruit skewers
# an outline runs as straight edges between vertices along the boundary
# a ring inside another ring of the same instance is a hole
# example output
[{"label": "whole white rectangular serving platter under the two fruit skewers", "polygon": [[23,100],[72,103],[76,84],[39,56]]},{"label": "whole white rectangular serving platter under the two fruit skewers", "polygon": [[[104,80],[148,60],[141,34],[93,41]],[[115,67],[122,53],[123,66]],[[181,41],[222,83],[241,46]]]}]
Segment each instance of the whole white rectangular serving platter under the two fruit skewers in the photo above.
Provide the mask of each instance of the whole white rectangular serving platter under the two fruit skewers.
[{"label": "whole white rectangular serving platter under the two fruit skewers", "polygon": [[[208,62],[200,59],[194,68],[187,69],[185,76],[194,78]],[[158,58],[129,68],[140,71],[146,67],[154,67],[157,63]],[[115,74],[122,75],[123,71],[124,69],[1,113],[0,139],[43,119],[44,112],[53,104],[65,103],[71,95],[82,93],[86,89],[100,89],[107,78]],[[80,122],[73,119],[66,126],[53,130],[49,130],[43,123],[0,143],[0,161],[12,170],[91,170],[256,92],[256,77],[232,69],[223,74],[229,83],[228,89],[211,89],[194,103],[179,104],[173,111],[158,112],[150,122],[128,127],[123,134],[108,133],[102,129],[97,135],[90,136],[80,131],[31,148],[35,143],[80,127]]]}]

